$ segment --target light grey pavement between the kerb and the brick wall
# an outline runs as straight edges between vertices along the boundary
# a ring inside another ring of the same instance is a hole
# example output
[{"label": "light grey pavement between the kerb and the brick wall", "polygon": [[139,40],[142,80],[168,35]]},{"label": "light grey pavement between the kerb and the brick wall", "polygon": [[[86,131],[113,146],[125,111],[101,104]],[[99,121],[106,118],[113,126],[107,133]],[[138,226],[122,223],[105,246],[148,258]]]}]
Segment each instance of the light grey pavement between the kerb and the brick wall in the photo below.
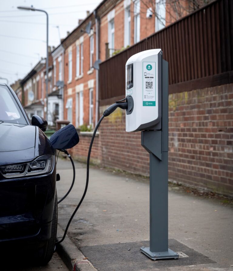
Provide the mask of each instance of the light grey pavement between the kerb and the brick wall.
[{"label": "light grey pavement between the kerb and the brick wall", "polygon": [[[63,229],[82,196],[86,182],[86,165],[75,164],[76,183],[68,198],[59,205],[59,225]],[[61,198],[72,180],[70,162],[59,159],[57,171],[61,176],[61,181],[57,182],[58,197]],[[90,259],[98,271],[105,270],[103,266],[109,264],[110,256],[106,246],[109,246],[110,251],[118,249],[114,247],[115,244],[129,243],[133,251],[136,242],[149,239],[149,183],[147,179],[135,180],[132,177],[90,168],[88,192],[70,225],[68,236],[77,248],[85,252],[84,256]],[[119,255],[115,257],[119,263],[116,260],[114,269],[108,267],[108,271],[233,270],[233,206],[225,206],[220,201],[189,195],[180,190],[170,190],[169,239],[177,241],[178,245],[185,245],[190,251],[194,249],[200,255],[207,256],[209,263],[194,261],[192,264],[191,261],[182,265],[184,262],[179,259],[181,265],[172,264],[174,260],[169,260],[168,265],[165,261],[164,264],[159,263],[159,266],[153,262],[154,266],[151,267],[151,260],[148,262],[149,259],[143,258],[143,269],[137,266],[129,269],[126,265],[121,266],[125,259]],[[105,255],[99,255],[98,251],[105,251]],[[93,253],[97,253],[96,257]],[[198,256],[193,256],[193,259],[195,257]],[[99,262],[104,263],[102,267]]]}]

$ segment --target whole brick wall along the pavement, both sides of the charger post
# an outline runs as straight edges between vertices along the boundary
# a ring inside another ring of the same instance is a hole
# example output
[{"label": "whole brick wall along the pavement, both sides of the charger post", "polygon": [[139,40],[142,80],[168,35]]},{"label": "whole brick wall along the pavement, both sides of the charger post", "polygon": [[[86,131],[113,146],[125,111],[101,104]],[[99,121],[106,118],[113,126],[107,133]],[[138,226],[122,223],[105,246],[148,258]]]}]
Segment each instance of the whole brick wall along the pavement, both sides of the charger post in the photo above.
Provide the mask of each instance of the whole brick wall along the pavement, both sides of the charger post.
[{"label": "whole brick wall along the pavement, both sides of the charger post", "polygon": [[[99,132],[92,158],[103,166],[149,174],[140,132],[125,132],[122,110],[104,118]],[[75,153],[85,156],[88,142],[81,136]],[[233,84],[169,95],[169,179],[233,195]]]}]

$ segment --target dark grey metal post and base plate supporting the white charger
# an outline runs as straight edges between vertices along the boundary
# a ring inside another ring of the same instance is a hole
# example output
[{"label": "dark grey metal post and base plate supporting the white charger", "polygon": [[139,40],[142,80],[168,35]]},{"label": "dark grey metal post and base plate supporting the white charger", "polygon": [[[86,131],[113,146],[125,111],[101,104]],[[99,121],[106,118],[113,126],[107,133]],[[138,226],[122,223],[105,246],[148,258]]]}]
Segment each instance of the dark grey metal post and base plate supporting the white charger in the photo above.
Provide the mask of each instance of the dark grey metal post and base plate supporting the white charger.
[{"label": "dark grey metal post and base plate supporting the white charger", "polygon": [[141,132],[150,154],[150,247],[140,250],[150,259],[177,259],[168,248],[168,63],[162,60],[162,129]]}]

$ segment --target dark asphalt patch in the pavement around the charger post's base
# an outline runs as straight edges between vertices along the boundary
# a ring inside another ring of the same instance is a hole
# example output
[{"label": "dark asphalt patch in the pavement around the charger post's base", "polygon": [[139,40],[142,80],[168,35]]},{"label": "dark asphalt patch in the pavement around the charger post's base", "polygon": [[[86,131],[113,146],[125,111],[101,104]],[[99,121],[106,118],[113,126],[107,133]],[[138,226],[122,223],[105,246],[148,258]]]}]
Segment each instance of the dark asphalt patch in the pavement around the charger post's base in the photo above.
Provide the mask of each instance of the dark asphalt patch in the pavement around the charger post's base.
[{"label": "dark asphalt patch in the pavement around the charger post's base", "polygon": [[101,271],[149,271],[157,268],[163,270],[166,267],[215,263],[175,239],[169,239],[169,248],[175,252],[182,252],[185,257],[153,261],[140,252],[139,248],[142,246],[148,247],[149,241],[85,246],[80,250],[93,266]]}]

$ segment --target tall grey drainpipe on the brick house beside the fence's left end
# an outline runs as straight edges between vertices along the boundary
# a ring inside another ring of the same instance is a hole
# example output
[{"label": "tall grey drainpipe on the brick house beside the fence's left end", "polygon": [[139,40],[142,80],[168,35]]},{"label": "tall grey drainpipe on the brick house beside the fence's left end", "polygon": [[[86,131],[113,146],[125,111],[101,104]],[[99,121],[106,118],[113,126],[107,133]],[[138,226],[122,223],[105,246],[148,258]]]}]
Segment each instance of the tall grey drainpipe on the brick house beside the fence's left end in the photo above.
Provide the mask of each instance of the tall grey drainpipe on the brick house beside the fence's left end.
[{"label": "tall grey drainpipe on the brick house beside the fence's left end", "polygon": [[[97,10],[93,11],[95,15],[95,23],[96,23],[96,60],[100,58],[99,52],[99,40],[100,40],[100,17],[97,15]],[[99,117],[99,70],[96,69],[96,117],[95,117],[95,125],[98,122]]]}]

